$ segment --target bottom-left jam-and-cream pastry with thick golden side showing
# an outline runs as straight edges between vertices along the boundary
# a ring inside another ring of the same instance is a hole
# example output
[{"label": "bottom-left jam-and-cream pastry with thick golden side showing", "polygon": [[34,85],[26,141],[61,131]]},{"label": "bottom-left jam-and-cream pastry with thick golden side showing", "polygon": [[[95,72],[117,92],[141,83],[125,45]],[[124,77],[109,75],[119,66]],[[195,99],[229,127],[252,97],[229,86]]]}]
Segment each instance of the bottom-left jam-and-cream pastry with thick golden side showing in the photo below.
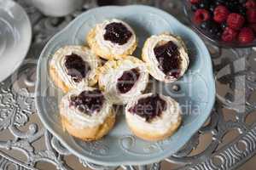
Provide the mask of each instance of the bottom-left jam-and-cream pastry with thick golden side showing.
[{"label": "bottom-left jam-and-cream pastry with thick golden side showing", "polygon": [[112,105],[96,88],[70,91],[61,99],[60,112],[63,128],[85,141],[101,139],[115,122]]}]

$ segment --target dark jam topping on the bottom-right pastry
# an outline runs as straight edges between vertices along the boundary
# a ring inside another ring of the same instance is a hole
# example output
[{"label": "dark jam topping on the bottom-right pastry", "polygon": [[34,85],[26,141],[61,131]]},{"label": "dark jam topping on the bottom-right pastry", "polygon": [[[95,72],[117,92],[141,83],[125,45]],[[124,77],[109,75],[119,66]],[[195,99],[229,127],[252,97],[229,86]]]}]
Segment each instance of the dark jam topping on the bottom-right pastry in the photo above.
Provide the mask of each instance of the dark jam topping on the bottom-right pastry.
[{"label": "dark jam topping on the bottom-right pastry", "polygon": [[139,99],[137,104],[128,111],[142,116],[147,122],[150,122],[154,117],[160,116],[163,111],[166,111],[166,101],[161,99],[159,94],[153,94],[147,98]]}]

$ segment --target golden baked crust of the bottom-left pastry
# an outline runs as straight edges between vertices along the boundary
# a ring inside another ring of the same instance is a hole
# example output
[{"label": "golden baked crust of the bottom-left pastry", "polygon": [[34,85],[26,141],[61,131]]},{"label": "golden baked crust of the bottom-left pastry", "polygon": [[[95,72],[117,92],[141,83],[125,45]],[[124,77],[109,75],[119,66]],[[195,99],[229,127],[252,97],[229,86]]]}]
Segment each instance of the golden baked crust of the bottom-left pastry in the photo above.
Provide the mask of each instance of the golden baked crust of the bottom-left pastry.
[{"label": "golden baked crust of the bottom-left pastry", "polygon": [[61,114],[61,122],[63,128],[67,130],[67,133],[71,134],[73,137],[82,139],[84,141],[94,141],[97,139],[101,139],[113,128],[115,122],[115,115],[113,114],[113,111],[111,111],[111,113],[109,113],[109,116],[106,117],[105,121],[101,125],[98,125],[96,127],[78,128],[76,126],[73,126],[75,122],[70,122],[66,116],[63,116],[63,114]]}]

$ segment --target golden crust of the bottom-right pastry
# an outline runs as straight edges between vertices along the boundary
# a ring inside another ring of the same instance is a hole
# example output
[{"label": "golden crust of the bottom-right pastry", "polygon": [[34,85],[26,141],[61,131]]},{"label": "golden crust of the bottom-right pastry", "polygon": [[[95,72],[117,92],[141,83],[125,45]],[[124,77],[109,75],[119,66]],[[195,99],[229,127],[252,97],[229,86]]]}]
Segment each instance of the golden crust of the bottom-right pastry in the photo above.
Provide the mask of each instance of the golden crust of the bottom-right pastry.
[{"label": "golden crust of the bottom-right pastry", "polygon": [[172,136],[173,133],[177,131],[177,128],[182,122],[182,117],[179,115],[177,118],[177,123],[172,124],[166,133],[148,133],[148,131],[139,130],[135,124],[129,122],[129,119],[126,119],[128,127],[131,129],[131,132],[134,133],[138,138],[148,140],[148,141],[158,141],[167,139]]}]

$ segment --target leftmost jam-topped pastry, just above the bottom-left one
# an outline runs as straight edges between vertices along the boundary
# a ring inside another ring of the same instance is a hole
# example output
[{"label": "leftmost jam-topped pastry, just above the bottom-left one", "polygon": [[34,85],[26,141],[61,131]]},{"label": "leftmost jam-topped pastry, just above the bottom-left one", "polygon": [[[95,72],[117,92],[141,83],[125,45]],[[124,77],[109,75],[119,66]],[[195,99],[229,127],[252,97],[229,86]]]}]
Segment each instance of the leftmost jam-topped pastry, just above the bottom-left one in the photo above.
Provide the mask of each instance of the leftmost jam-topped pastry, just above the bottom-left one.
[{"label": "leftmost jam-topped pastry, just above the bottom-left one", "polygon": [[49,75],[55,85],[67,92],[73,88],[93,86],[97,82],[100,59],[89,48],[65,46],[49,62]]}]

